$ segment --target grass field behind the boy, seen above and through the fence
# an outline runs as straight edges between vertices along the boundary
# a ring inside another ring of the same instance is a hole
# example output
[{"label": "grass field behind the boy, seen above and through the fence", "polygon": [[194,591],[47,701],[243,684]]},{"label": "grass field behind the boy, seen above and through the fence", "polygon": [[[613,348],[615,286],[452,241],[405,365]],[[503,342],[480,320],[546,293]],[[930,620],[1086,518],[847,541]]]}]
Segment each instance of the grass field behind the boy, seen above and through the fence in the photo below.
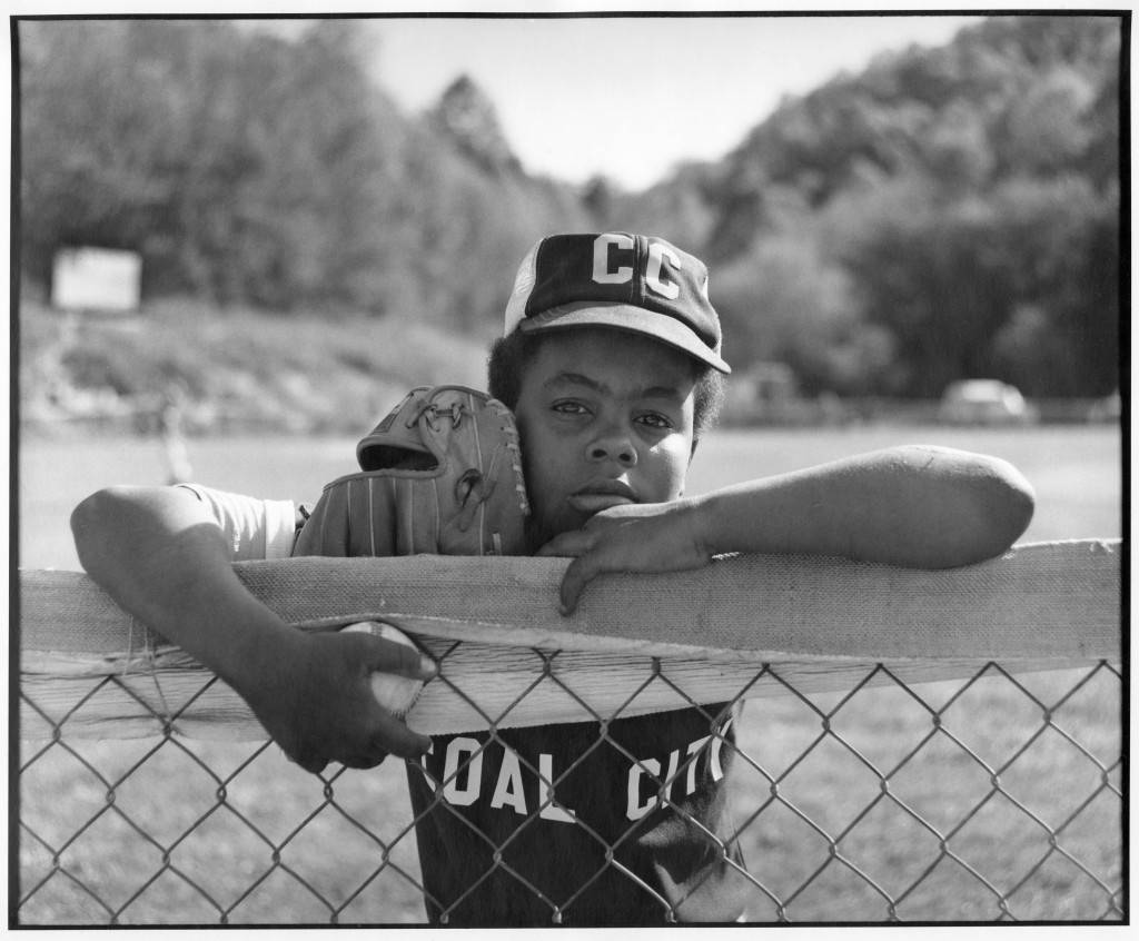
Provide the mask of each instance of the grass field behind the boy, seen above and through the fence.
[{"label": "grass field behind the boy, seen above and through the fence", "polygon": [[[689,492],[901,442],[1011,460],[1038,492],[1023,541],[1121,535],[1117,428],[721,433],[702,443]],[[192,441],[190,457],[212,485],[311,500],[351,469],[352,442]],[[77,567],[66,523],[75,502],[106,484],[164,476],[158,445],[136,439],[41,441],[19,461],[24,567]],[[1112,917],[1122,878],[1117,674],[994,677],[912,692],[920,701],[885,687],[745,709],[740,747],[749,760],[734,771],[740,842],[748,870],[786,903],[786,917],[973,920],[1001,917],[1002,906],[1022,919]],[[942,710],[936,735],[931,709]],[[825,735],[820,711],[830,710]],[[423,920],[394,762],[345,772],[326,788],[276,746],[252,743],[65,738],[27,744],[22,759],[26,924],[105,924],[115,914],[122,924],[216,923],[223,911],[231,924],[328,923],[330,908],[342,924]],[[868,763],[888,777],[888,796]],[[985,766],[1000,771],[999,791]],[[945,837],[948,856],[919,818]],[[898,902],[893,913],[883,893]],[[764,892],[754,901],[754,919],[777,917]]]}]

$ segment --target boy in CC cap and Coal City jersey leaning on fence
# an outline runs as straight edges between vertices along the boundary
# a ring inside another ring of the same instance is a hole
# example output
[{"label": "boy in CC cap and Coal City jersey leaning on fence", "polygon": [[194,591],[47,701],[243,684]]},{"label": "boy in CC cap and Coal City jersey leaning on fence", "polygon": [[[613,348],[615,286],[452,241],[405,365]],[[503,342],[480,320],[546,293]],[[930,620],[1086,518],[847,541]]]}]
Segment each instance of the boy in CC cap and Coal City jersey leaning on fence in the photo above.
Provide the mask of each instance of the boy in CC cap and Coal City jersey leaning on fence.
[{"label": "boy in CC cap and Coal City jersey leaning on fence", "polygon": [[[523,262],[490,391],[515,411],[530,548],[573,557],[564,613],[601,572],[693,568],[729,551],[945,567],[1023,533],[1023,477],[940,448],[685,497],[722,401],[720,347],[704,265],[662,239],[551,236]],[[289,555],[301,523],[292,504],[203,488],[112,489],[73,515],[92,578],[231,684],[303,767],[420,756],[409,780],[432,920],[739,918],[748,883],[726,788],[738,710],[426,739],[375,706],[368,677],[428,678],[432,664],[363,633],[293,631],[233,576],[235,558]]]}]

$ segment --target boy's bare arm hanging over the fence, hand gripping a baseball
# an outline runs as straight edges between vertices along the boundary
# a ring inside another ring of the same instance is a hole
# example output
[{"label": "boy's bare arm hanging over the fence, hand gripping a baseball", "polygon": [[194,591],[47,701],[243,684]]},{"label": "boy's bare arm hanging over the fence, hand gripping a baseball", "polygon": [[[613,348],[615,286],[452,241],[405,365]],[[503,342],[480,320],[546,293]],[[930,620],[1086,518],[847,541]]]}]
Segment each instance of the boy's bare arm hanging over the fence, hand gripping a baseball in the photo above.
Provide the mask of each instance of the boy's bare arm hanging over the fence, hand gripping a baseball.
[{"label": "boy's bare arm hanging over the fence, hand gripping a baseball", "polygon": [[305,770],[371,768],[429,746],[379,707],[369,674],[428,679],[434,664],[366,633],[288,627],[238,580],[221,526],[189,490],[101,490],[75,508],[72,531],[91,578],[232,686]]}]

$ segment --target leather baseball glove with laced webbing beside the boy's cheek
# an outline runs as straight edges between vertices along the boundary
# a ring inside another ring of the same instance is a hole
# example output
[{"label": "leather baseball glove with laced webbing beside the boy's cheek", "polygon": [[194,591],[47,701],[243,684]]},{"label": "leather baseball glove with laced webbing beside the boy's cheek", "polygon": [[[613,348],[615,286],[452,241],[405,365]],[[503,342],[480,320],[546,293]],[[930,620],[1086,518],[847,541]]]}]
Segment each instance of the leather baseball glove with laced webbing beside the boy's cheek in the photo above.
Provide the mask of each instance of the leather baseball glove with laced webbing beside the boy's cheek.
[{"label": "leather baseball glove with laced webbing beside the boy's cheek", "polygon": [[510,410],[460,385],[411,390],[328,484],[294,556],[522,555],[530,514]]}]

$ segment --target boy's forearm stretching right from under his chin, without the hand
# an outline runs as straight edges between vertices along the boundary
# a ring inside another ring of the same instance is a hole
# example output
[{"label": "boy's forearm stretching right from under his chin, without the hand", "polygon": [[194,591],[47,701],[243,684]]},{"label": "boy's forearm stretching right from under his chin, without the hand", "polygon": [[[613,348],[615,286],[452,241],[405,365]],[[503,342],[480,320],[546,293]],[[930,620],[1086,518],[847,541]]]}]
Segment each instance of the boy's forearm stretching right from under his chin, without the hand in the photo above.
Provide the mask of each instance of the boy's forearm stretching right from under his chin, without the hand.
[{"label": "boy's forearm stretching right from under his chin, without the hand", "polygon": [[941,568],[999,555],[1032,518],[1006,461],[945,448],[876,451],[697,498],[710,554],[836,555]]}]

